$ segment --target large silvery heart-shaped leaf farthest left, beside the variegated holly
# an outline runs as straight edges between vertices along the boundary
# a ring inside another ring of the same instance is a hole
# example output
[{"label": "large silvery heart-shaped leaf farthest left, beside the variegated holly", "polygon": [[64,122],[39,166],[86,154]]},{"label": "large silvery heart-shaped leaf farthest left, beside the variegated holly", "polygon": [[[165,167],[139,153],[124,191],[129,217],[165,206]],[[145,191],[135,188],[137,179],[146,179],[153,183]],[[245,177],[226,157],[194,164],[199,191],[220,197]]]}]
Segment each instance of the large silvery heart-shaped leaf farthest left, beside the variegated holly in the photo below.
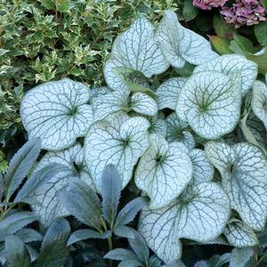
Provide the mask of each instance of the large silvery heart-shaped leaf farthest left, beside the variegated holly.
[{"label": "large silvery heart-shaped leaf farthest left, beside the variegated holly", "polygon": [[89,88],[69,78],[38,85],[21,101],[20,116],[29,138],[45,150],[62,150],[84,136],[93,122]]}]

